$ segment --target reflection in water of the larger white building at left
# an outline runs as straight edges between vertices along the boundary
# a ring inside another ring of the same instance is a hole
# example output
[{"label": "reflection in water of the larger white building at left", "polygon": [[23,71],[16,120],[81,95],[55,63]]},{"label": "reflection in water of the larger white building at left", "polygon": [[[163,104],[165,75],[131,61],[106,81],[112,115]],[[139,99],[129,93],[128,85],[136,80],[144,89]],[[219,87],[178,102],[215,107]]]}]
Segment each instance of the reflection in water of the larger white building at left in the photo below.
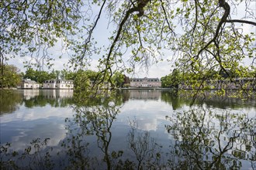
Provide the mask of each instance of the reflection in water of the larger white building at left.
[{"label": "reflection in water of the larger white building at left", "polygon": [[73,90],[42,90],[42,95],[47,98],[73,97]]}]

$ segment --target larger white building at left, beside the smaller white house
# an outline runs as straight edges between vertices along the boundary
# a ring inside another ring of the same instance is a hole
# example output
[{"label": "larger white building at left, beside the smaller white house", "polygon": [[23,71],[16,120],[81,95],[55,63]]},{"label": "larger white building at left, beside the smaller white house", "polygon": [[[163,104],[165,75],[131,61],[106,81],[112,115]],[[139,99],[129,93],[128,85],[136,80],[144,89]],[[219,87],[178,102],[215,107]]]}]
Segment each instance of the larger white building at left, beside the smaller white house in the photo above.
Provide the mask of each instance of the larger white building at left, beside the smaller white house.
[{"label": "larger white building at left, beside the smaller white house", "polygon": [[44,89],[73,89],[73,80],[46,80],[43,82]]}]

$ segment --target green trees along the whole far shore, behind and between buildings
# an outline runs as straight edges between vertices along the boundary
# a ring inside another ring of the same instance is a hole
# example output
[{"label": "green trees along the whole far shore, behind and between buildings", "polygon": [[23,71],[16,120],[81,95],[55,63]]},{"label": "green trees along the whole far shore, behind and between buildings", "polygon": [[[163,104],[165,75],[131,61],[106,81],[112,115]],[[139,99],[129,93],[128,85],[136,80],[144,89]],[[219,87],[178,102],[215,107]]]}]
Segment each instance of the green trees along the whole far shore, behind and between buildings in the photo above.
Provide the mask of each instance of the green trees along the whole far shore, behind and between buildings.
[{"label": "green trees along the whole far shore, behind and between buildings", "polygon": [[[241,70],[247,72],[247,77],[256,77],[256,70],[248,70],[246,67],[241,67]],[[218,77],[216,77],[216,72],[219,72]],[[228,75],[227,75],[228,74]],[[202,80],[199,74],[194,74],[191,72],[182,72],[181,70],[174,69],[172,73],[161,77],[161,87],[164,88],[178,88],[178,85],[184,83],[187,77],[192,77],[193,80]],[[239,73],[232,71],[216,71],[212,70],[208,73],[203,73],[207,75],[207,80],[224,80],[224,79],[234,79],[240,78]],[[21,80],[30,79],[37,83],[43,83],[45,80],[61,79],[61,80],[74,80],[75,86],[85,86],[89,83],[95,81],[99,78],[100,73],[93,70],[77,70],[72,72],[70,70],[51,70],[50,72],[44,70],[33,70],[33,68],[28,68],[25,73],[20,72],[20,70],[14,65],[5,65],[3,76],[0,77],[0,87],[17,87]],[[129,76],[124,75],[121,72],[116,72],[111,77],[112,87],[130,87]]]}]

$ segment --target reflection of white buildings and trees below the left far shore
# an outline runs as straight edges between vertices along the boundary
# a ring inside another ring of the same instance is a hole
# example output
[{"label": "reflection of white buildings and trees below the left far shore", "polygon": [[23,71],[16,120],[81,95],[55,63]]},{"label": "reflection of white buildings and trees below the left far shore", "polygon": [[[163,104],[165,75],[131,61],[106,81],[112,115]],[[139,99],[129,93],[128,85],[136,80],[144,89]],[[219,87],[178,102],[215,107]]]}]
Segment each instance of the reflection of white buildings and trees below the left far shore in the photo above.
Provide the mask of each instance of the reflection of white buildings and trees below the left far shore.
[{"label": "reflection of white buildings and trees below the left far shore", "polygon": [[73,104],[73,90],[0,90],[0,115],[25,107],[66,107]]}]

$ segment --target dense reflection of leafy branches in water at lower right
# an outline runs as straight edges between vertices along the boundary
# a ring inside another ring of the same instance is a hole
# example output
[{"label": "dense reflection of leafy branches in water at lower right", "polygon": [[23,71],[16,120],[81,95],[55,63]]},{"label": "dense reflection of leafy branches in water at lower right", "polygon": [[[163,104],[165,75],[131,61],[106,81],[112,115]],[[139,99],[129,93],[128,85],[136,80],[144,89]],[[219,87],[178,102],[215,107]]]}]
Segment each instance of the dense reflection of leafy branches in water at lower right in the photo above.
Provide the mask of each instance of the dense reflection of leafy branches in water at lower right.
[{"label": "dense reflection of leafy branches in water at lower right", "polygon": [[177,169],[240,169],[256,161],[255,117],[200,107],[167,117],[174,138],[168,165]]}]

